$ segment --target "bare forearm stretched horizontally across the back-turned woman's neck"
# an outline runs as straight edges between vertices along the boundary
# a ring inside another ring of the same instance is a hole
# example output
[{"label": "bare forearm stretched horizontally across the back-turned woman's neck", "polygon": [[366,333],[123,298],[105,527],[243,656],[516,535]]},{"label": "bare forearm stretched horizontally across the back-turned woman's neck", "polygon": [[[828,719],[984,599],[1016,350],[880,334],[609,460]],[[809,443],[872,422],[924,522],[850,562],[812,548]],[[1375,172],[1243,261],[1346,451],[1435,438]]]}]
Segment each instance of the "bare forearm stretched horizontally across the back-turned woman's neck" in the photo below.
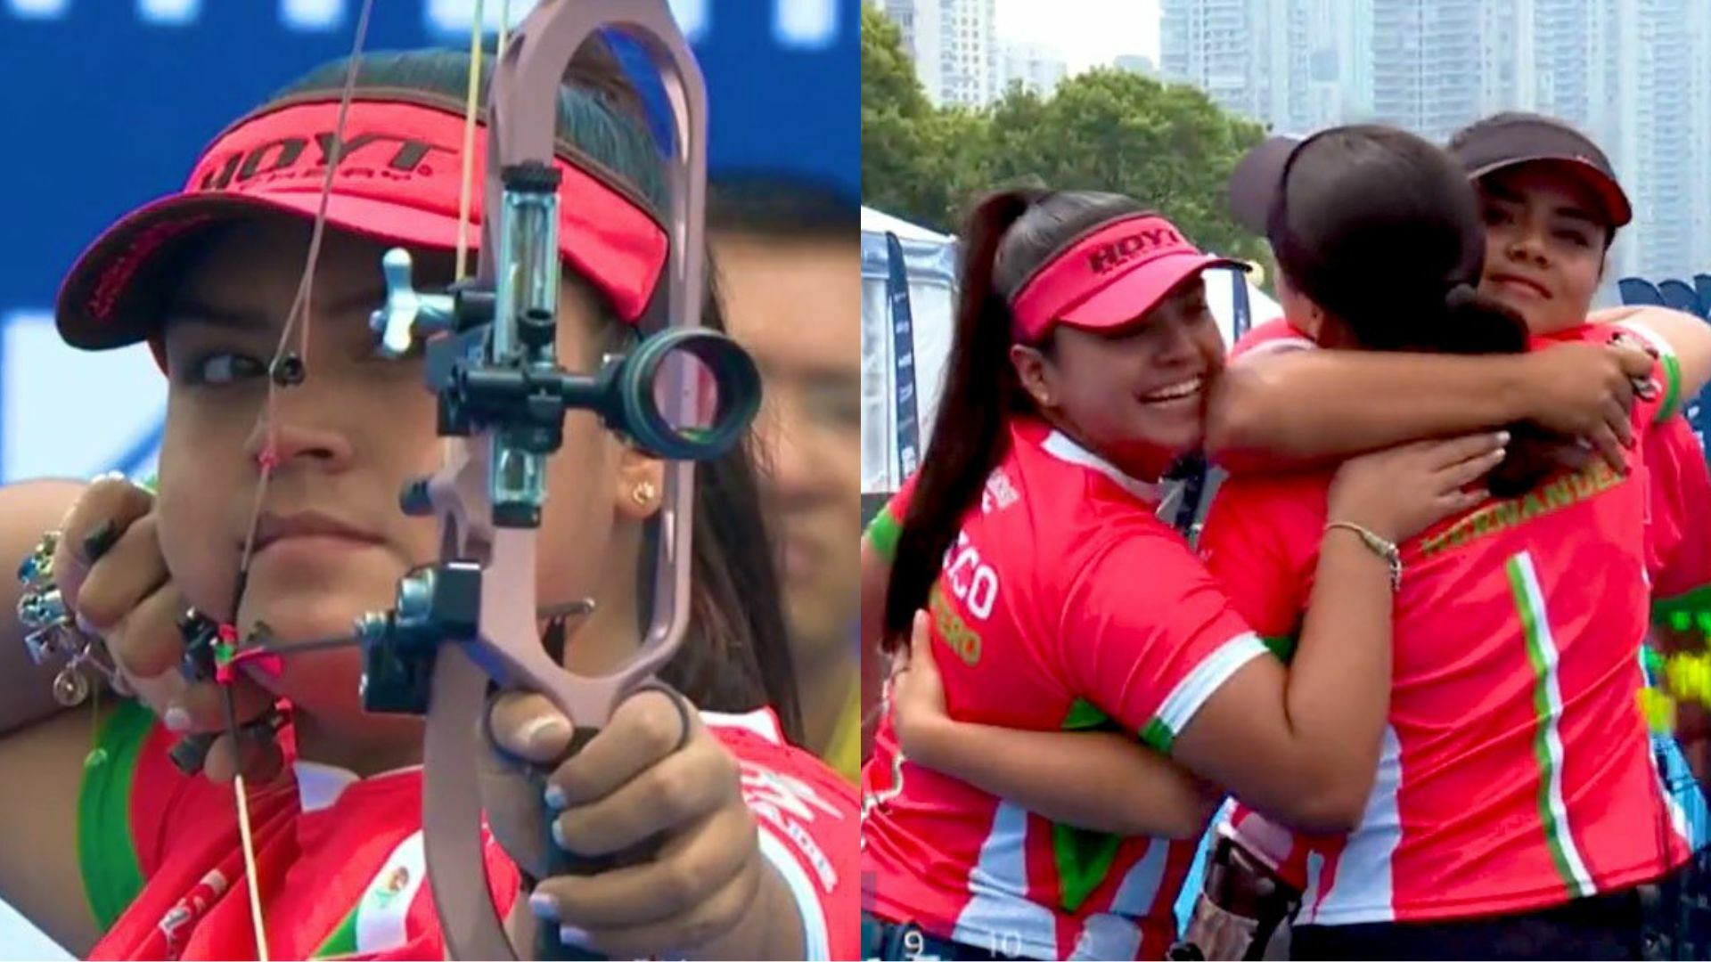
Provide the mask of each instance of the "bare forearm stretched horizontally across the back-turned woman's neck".
[{"label": "bare forearm stretched horizontally across the back-turned woman's neck", "polygon": [[1218,378],[1206,450],[1230,471],[1302,467],[1526,416],[1519,356],[1304,349]]}]

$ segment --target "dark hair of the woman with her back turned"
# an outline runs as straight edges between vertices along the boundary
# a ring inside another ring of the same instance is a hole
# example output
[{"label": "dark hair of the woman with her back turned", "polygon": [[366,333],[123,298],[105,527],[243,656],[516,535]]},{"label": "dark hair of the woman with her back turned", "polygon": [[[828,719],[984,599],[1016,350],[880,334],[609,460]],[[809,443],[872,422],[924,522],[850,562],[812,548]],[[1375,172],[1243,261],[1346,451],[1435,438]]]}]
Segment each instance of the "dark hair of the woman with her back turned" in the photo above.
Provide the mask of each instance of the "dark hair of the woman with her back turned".
[{"label": "dark hair of the woman with her back turned", "polygon": [[[1478,193],[1449,154],[1406,130],[1341,127],[1297,149],[1270,235],[1288,282],[1365,349],[1526,351],[1521,315],[1478,293]],[[1494,495],[1525,491],[1550,471],[1543,435],[1509,431]]]}]

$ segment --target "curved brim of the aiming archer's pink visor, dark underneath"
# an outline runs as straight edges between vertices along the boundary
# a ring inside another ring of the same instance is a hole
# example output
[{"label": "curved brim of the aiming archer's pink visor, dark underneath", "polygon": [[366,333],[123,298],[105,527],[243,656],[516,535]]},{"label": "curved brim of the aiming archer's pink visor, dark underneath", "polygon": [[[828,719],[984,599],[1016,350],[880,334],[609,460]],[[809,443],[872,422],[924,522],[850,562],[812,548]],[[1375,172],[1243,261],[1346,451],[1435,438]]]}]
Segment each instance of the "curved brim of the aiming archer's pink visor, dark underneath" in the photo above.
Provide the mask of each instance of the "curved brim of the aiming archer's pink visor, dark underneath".
[{"label": "curved brim of the aiming archer's pink visor, dark underneath", "polygon": [[[74,347],[104,351],[152,337],[173,284],[163,276],[176,252],[202,233],[260,214],[315,219],[320,192],[178,193],[132,211],[101,233],[67,270],[55,318]],[[327,224],[383,243],[450,250],[457,217],[368,197],[327,197]],[[481,238],[471,231],[471,248]]]}]

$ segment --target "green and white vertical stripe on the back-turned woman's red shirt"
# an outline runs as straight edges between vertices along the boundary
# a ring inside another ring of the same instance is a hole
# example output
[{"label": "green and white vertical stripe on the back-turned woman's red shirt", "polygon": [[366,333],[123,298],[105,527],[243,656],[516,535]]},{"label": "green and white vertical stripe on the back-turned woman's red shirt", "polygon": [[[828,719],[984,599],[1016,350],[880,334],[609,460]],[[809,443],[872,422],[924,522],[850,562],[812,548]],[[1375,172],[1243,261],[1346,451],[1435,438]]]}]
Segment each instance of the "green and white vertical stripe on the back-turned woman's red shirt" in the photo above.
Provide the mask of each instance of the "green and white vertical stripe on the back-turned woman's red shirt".
[{"label": "green and white vertical stripe on the back-turned woman's red shirt", "polygon": [[1528,551],[1513,555],[1506,563],[1509,591],[1521,615],[1521,633],[1526,640],[1526,661],[1533,666],[1533,757],[1538,760],[1538,817],[1545,825],[1545,844],[1550,861],[1569,890],[1579,899],[1596,892],[1586,863],[1574,846],[1569,810],[1562,803],[1562,686],[1557,680],[1557,640],[1550,632],[1545,611],[1545,594],[1538,587],[1538,572]]}]

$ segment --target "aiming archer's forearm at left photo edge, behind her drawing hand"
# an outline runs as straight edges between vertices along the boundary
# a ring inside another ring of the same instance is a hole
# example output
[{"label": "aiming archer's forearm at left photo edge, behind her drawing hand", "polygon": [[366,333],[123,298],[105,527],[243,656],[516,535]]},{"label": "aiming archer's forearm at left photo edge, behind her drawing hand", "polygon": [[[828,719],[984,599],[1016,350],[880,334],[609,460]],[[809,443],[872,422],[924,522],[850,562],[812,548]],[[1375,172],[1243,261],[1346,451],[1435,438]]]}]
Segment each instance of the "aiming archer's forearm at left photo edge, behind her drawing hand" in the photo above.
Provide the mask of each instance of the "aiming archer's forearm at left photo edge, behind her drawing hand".
[{"label": "aiming archer's forearm at left photo edge, behind her drawing hand", "polygon": [[0,736],[60,710],[53,700],[53,676],[63,666],[38,666],[24,650],[24,626],[17,620],[24,585],[14,572],[41,534],[60,524],[82,490],[80,481],[22,481],[0,488]]}]

